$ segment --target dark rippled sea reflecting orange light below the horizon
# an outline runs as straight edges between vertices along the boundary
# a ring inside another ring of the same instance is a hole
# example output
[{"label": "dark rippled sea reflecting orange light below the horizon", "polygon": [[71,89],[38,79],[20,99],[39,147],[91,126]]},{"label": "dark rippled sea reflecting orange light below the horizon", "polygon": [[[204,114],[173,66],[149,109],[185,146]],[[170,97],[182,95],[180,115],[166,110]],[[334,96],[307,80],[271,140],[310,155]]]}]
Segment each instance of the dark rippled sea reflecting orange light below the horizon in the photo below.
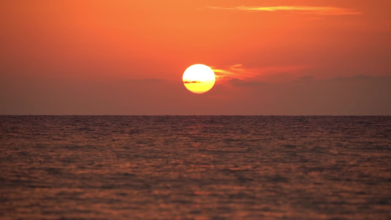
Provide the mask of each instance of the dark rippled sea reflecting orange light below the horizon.
[{"label": "dark rippled sea reflecting orange light below the horizon", "polygon": [[0,116],[1,219],[391,219],[391,117]]}]

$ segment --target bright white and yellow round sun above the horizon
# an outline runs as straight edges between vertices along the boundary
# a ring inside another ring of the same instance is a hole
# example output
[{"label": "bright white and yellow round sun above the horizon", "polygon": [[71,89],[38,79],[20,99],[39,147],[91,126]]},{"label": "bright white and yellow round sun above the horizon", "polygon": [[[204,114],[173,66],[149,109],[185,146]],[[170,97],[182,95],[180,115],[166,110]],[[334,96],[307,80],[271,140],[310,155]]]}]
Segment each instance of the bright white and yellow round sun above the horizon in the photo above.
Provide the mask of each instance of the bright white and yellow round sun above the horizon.
[{"label": "bright white and yellow round sun above the horizon", "polygon": [[183,84],[196,94],[208,92],[215,85],[216,76],[210,67],[203,64],[194,64],[183,73]]}]

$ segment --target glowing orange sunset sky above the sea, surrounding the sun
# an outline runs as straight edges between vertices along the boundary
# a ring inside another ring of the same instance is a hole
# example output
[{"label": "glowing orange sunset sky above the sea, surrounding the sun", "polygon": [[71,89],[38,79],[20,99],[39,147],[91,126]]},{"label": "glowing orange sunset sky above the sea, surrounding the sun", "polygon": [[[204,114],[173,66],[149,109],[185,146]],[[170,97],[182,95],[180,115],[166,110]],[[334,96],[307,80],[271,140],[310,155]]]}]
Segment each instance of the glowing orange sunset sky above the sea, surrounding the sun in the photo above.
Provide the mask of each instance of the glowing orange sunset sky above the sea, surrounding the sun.
[{"label": "glowing orange sunset sky above the sea, surrounding the sun", "polygon": [[[391,115],[390,0],[0,3],[0,114]],[[208,65],[204,94],[182,82]]]}]

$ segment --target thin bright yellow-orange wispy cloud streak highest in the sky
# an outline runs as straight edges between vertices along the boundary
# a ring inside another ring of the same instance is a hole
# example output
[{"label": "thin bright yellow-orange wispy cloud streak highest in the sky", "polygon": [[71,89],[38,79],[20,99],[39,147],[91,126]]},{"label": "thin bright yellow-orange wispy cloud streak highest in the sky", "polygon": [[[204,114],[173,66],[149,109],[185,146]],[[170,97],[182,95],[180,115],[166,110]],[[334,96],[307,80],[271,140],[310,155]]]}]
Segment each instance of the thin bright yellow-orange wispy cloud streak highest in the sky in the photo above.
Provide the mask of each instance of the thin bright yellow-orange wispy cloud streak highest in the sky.
[{"label": "thin bright yellow-orange wispy cloud streak highest in the sky", "polygon": [[271,6],[271,7],[251,7],[251,6],[237,6],[237,7],[212,7],[206,6],[209,9],[222,10],[238,10],[238,11],[289,11],[291,13],[300,14],[315,14],[315,15],[341,15],[341,14],[362,14],[359,11],[349,8],[330,7],[330,6]]}]

